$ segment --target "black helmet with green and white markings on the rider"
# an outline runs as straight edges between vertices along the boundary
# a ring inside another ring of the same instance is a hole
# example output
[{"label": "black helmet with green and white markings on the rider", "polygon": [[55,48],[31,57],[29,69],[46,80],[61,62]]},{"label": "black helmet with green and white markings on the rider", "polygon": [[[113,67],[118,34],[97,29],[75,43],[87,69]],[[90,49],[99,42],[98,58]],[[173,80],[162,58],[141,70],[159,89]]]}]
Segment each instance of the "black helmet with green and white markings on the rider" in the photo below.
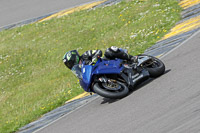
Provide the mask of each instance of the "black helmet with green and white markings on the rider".
[{"label": "black helmet with green and white markings on the rider", "polygon": [[79,63],[79,58],[77,50],[71,50],[63,56],[63,62],[69,69],[72,69],[74,65]]}]

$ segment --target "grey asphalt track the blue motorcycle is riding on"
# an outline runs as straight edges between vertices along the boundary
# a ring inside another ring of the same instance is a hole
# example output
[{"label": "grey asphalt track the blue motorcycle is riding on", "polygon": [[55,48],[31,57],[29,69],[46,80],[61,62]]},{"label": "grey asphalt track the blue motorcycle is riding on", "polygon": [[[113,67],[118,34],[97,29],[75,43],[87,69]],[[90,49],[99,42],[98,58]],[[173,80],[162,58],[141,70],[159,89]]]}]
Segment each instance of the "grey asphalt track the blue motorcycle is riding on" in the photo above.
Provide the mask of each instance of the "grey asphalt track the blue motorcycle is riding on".
[{"label": "grey asphalt track the blue motorcycle is riding on", "polygon": [[98,97],[37,133],[199,133],[200,31],[162,58],[166,73],[121,100]]}]

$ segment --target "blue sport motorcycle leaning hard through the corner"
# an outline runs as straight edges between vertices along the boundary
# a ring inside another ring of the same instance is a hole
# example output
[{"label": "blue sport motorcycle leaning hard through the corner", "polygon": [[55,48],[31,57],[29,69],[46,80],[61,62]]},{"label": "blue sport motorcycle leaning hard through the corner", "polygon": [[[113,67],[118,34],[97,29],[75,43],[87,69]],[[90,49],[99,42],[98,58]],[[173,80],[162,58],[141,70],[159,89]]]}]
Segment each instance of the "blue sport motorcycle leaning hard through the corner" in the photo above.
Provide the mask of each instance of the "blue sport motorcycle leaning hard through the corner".
[{"label": "blue sport motorcycle leaning hard through the corner", "polygon": [[119,99],[128,95],[138,83],[165,72],[164,63],[153,56],[138,55],[137,63],[122,59],[99,58],[95,64],[75,66],[80,85],[86,92]]}]

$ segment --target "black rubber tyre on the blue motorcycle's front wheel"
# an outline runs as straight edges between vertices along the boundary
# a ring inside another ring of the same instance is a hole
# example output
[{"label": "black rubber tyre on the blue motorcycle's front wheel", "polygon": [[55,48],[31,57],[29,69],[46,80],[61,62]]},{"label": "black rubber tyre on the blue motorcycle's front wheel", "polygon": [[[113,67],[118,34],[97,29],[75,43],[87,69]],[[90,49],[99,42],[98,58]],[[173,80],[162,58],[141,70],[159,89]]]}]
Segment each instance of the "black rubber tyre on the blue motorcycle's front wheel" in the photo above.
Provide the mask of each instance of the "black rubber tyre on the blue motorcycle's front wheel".
[{"label": "black rubber tyre on the blue motorcycle's front wheel", "polygon": [[119,90],[110,90],[103,83],[98,82],[95,83],[93,86],[94,92],[99,94],[102,97],[111,98],[111,99],[120,99],[128,95],[129,89],[128,87],[119,81],[117,81],[118,86],[120,87]]}]

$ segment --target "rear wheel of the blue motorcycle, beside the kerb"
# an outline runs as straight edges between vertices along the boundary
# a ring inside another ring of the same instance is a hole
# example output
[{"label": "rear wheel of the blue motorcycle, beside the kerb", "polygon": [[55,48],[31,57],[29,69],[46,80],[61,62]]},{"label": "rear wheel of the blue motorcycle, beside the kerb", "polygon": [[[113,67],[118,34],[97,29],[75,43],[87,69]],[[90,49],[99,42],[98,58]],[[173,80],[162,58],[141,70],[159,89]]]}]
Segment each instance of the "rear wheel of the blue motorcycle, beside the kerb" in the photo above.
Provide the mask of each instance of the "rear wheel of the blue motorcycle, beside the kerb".
[{"label": "rear wheel of the blue motorcycle, beside the kerb", "polygon": [[149,72],[150,77],[153,77],[153,78],[159,77],[165,72],[165,64],[156,57],[153,57],[153,56],[149,56],[149,57],[151,57],[151,60],[147,61],[143,65]]}]

